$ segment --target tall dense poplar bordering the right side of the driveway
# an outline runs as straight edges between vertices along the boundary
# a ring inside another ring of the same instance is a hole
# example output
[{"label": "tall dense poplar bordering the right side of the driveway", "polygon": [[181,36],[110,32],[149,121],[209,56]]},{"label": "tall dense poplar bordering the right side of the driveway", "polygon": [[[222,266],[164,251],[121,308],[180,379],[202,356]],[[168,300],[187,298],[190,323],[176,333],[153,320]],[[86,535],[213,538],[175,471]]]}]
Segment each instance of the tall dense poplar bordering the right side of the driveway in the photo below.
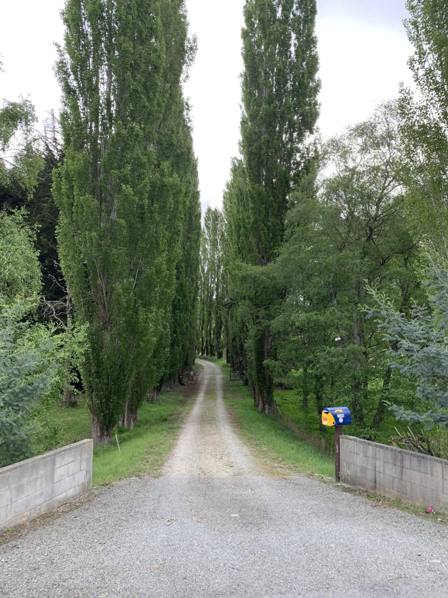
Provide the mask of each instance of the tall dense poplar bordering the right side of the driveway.
[{"label": "tall dense poplar bordering the right side of the driveway", "polygon": [[[241,162],[225,194],[235,303],[232,360],[246,364],[259,411],[274,410],[270,324],[279,291],[271,269],[287,200],[302,169],[302,144],[318,116],[315,0],[247,0],[243,28]],[[241,266],[241,263],[244,266]],[[266,271],[263,271],[266,269]],[[241,356],[238,346],[244,346]]]}]

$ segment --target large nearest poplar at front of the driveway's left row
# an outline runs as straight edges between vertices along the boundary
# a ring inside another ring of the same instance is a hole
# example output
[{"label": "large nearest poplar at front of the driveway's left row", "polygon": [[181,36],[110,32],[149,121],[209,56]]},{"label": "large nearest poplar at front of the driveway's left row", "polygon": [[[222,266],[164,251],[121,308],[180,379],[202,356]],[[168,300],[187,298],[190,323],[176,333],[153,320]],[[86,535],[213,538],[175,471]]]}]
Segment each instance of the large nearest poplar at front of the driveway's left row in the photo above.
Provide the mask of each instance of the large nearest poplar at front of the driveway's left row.
[{"label": "large nearest poplar at front of the driveway's left row", "polygon": [[[174,183],[158,168],[155,149],[167,100],[160,5],[67,0],[63,22],[57,75],[66,159],[54,179],[59,252],[78,317],[88,325],[82,382],[94,442],[110,443],[142,348],[151,355],[157,332],[149,334],[161,326],[161,206],[169,210]],[[145,292],[154,309],[142,301]]]}]

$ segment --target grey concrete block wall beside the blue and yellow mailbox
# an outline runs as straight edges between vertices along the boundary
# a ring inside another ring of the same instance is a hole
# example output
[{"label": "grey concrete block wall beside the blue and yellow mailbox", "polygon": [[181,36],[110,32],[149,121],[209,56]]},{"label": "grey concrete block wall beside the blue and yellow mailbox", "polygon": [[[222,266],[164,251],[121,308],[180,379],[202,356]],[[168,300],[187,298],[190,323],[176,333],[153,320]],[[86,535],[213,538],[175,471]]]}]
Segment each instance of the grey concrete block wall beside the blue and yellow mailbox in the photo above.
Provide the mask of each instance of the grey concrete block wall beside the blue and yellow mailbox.
[{"label": "grey concrete block wall beside the blue and yellow mailbox", "polygon": [[342,436],[340,481],[448,512],[448,460]]}]

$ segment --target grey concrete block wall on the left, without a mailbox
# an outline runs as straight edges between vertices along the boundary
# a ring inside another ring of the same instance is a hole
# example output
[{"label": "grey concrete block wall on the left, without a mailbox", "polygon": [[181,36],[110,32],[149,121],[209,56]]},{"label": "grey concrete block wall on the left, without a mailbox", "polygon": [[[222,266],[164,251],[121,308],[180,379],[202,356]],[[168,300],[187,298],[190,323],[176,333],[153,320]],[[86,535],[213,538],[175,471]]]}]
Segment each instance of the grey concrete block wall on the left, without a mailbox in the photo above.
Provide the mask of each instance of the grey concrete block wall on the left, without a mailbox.
[{"label": "grey concrete block wall on the left, without a mailbox", "polygon": [[93,442],[82,440],[0,469],[0,532],[90,490]]}]

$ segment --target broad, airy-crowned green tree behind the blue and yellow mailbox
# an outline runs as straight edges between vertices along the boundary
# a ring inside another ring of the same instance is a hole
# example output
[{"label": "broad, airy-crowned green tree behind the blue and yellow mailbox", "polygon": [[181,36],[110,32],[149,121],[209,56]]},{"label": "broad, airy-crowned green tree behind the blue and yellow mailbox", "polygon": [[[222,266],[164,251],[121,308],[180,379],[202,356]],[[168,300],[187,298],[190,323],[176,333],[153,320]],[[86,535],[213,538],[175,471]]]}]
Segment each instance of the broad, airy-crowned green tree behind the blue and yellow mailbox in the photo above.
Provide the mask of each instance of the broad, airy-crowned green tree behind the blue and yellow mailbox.
[{"label": "broad, airy-crowned green tree behind the blue and yellow mailbox", "polygon": [[318,414],[325,403],[348,401],[361,428],[381,424],[384,401],[396,392],[385,354],[391,341],[362,311],[370,300],[366,282],[388,292],[402,312],[421,295],[397,155],[393,104],[330,139],[317,184],[310,170],[291,197],[287,240],[275,263],[288,289],[272,323],[281,367],[312,373]]}]

